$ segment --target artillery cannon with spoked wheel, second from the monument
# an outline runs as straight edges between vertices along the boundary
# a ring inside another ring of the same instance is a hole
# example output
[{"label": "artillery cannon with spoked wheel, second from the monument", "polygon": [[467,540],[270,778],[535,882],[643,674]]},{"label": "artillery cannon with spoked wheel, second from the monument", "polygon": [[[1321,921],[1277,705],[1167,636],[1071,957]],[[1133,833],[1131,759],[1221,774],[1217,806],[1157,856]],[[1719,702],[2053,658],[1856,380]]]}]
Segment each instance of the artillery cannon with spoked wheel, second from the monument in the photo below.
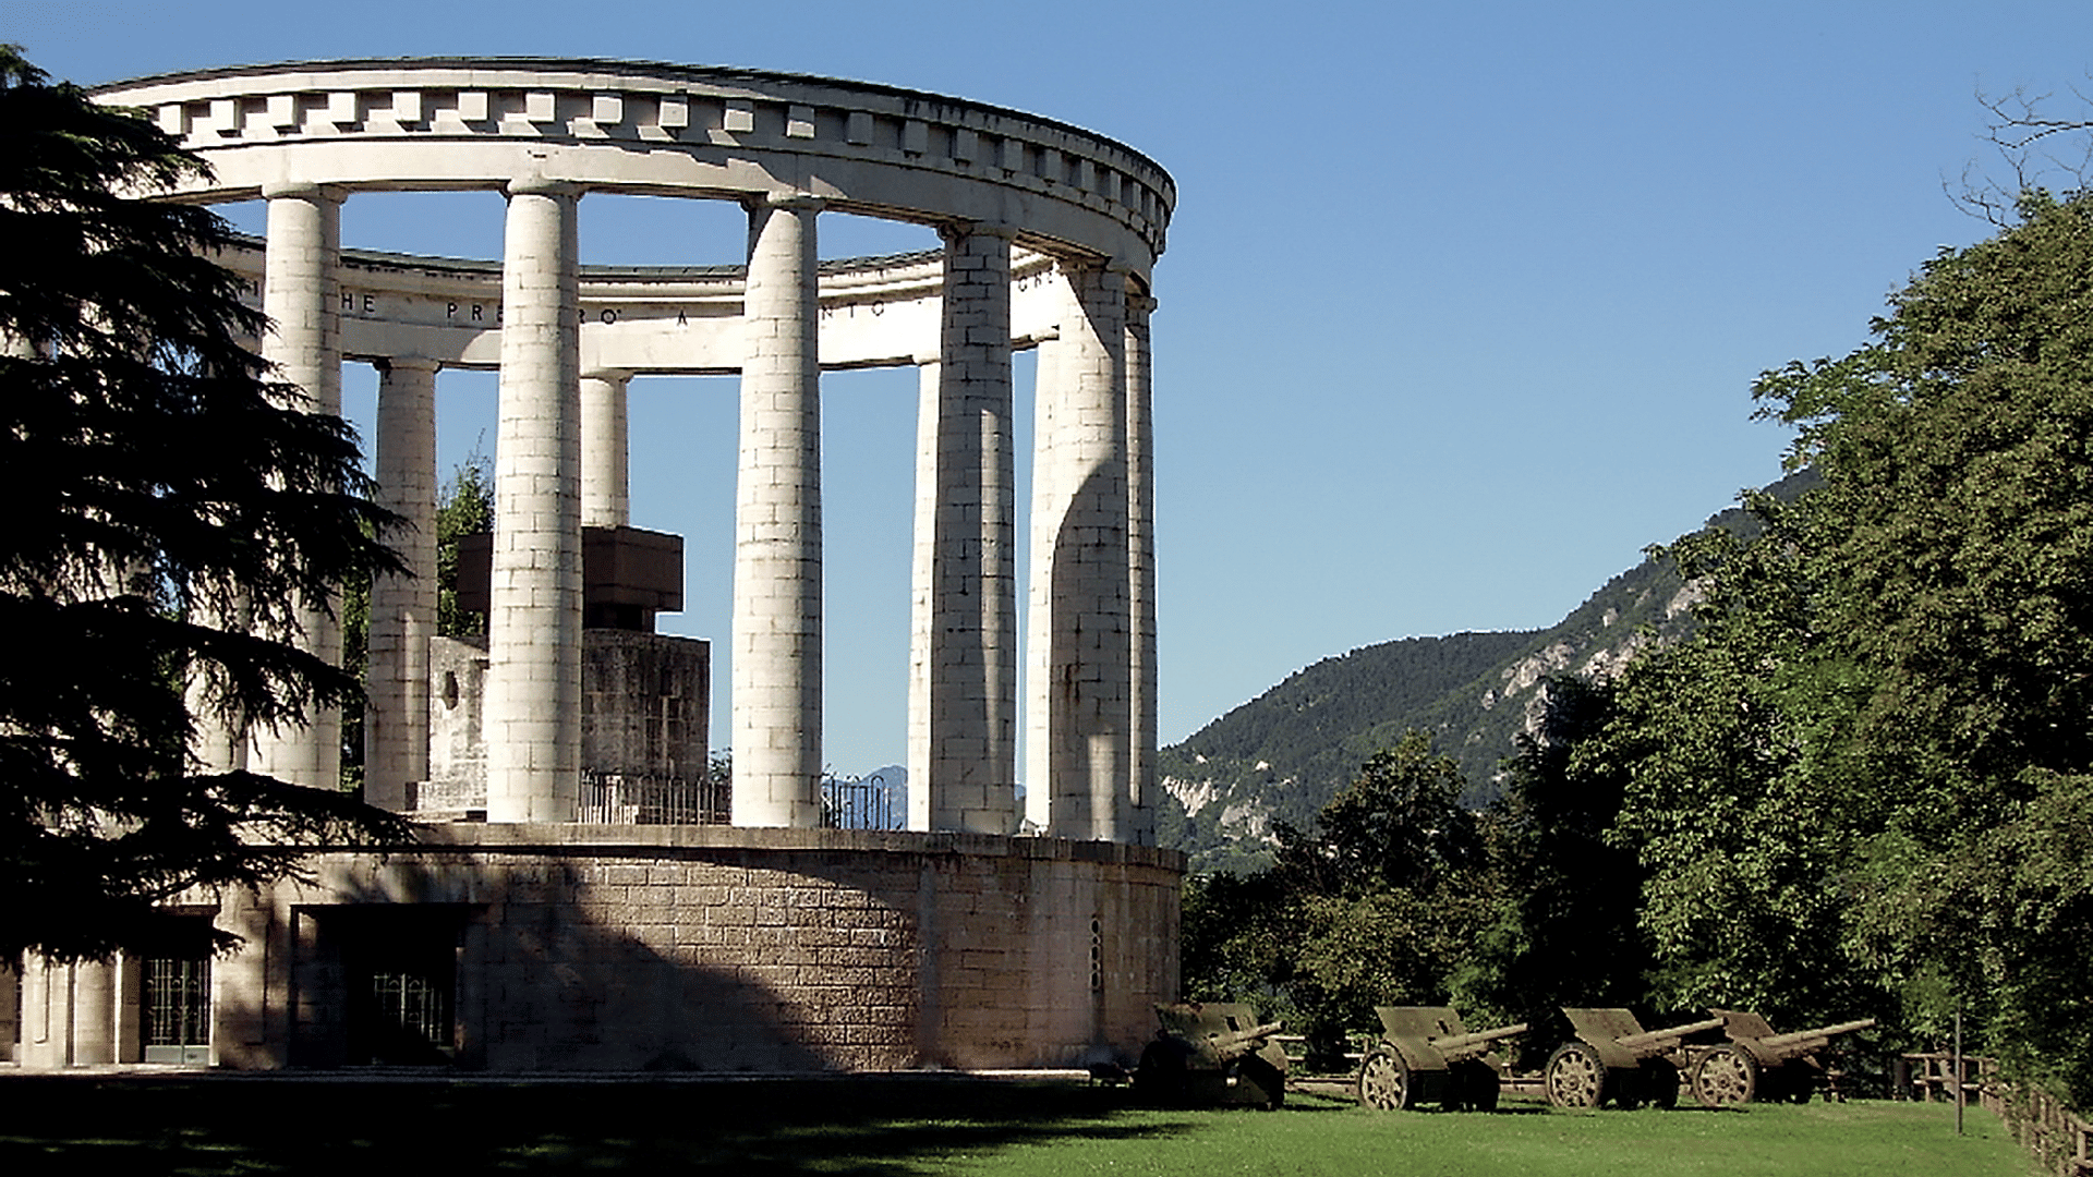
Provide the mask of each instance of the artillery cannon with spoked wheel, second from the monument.
[{"label": "artillery cannon with spoked wheel, second from the monument", "polygon": [[1467,1032],[1446,1005],[1379,1005],[1381,1041],[1358,1060],[1358,1102],[1398,1110],[1438,1104],[1448,1112],[1496,1108],[1505,1064],[1490,1049],[1524,1035],[1526,1022]]}]

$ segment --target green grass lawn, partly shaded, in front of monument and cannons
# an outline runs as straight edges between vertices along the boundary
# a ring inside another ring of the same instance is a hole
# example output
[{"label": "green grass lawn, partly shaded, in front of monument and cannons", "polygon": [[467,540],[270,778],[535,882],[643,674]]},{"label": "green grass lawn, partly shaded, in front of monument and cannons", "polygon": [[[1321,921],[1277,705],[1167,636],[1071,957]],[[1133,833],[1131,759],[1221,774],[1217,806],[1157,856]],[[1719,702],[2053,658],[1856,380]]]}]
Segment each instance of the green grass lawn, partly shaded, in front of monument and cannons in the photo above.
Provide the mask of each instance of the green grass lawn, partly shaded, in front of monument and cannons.
[{"label": "green grass lawn, partly shaded, in front of monument and cannons", "polygon": [[0,1175],[856,1173],[2028,1177],[1972,1108],[1166,1112],[1124,1089],[963,1081],[0,1079]]}]

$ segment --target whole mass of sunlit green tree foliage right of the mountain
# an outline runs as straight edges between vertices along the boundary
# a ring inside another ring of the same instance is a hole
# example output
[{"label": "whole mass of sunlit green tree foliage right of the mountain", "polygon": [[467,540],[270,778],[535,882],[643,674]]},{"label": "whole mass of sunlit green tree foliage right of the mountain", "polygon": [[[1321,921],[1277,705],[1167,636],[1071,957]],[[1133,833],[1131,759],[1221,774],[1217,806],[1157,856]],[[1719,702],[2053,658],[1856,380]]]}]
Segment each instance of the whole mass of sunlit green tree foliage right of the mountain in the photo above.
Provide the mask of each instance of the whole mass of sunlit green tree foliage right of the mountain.
[{"label": "whole mass of sunlit green tree foliage right of the mountain", "polygon": [[1756,385],[1823,484],[1695,536],[1702,630],[1574,760],[1681,1003],[1877,1012],[2093,1097],[2093,201],[1932,258],[1838,360]]}]

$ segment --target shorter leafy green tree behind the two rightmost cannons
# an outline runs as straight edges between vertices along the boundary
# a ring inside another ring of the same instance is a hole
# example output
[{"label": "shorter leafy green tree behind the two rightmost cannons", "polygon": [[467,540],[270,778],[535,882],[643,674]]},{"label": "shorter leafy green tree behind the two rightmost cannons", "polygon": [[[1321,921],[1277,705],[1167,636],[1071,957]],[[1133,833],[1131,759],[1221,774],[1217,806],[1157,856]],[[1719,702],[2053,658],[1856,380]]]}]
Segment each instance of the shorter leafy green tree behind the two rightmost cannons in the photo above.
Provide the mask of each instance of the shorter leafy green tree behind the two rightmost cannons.
[{"label": "shorter leafy green tree behind the two rightmost cannons", "polygon": [[1842,961],[1840,871],[1869,794],[1827,773],[1804,731],[1827,720],[1840,674],[1821,660],[1798,513],[1752,507],[1756,540],[1704,532],[1670,549],[1697,578],[1702,628],[1622,676],[1570,769],[1620,781],[1610,842],[1641,861],[1651,1005],[1840,1020],[1863,999],[1852,970],[1827,965]]}]

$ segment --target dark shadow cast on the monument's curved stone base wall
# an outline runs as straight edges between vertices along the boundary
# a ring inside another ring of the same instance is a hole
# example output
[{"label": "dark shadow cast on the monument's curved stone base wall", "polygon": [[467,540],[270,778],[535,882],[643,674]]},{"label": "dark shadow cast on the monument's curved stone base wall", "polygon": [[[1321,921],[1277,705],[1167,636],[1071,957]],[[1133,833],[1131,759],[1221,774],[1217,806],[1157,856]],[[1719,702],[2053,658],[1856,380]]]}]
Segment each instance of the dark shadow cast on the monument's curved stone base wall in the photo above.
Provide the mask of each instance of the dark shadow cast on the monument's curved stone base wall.
[{"label": "dark shadow cast on the monument's curved stone base wall", "polygon": [[[705,959],[707,945],[678,945],[674,926],[643,924],[666,919],[659,907],[603,896],[632,888],[592,886],[594,869],[661,863],[391,854],[373,871],[324,871],[329,894],[303,896],[324,903],[291,907],[291,1066],[806,1072],[848,1064],[820,1045],[837,1035],[810,1024],[802,1003],[764,980],[774,965]],[[632,915],[655,942],[634,934],[634,924],[607,921],[611,911]],[[728,934],[691,932],[691,940]],[[448,984],[440,1016],[450,1032],[435,1035],[450,1039],[446,1053],[414,1058],[414,1043],[387,1024],[393,1012],[368,995],[375,980],[398,986],[396,978],[417,974]]]}]

